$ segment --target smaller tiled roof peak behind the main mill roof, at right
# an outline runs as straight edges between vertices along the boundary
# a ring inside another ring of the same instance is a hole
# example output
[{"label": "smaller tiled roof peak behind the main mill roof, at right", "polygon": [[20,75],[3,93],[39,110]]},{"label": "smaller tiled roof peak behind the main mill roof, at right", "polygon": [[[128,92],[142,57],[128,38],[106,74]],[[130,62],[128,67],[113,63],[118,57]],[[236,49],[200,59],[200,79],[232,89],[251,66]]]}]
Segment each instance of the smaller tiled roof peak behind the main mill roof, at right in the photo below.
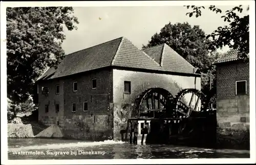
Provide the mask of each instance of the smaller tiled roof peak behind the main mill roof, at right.
[{"label": "smaller tiled roof peak behind the main mill roof, at right", "polygon": [[194,73],[195,68],[175,50],[170,48],[167,44],[153,46],[143,50],[152,58],[155,58],[160,66],[165,71],[179,72],[179,73]]}]

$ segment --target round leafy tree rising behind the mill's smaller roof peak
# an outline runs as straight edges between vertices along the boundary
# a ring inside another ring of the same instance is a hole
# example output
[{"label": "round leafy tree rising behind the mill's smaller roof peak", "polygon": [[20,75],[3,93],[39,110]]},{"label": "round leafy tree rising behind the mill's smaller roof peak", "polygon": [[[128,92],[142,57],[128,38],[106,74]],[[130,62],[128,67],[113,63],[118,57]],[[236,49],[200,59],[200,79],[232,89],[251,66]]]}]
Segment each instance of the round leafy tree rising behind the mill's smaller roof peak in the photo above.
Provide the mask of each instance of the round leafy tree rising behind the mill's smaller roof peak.
[{"label": "round leafy tree rising behind the mill's smaller roof peak", "polygon": [[[209,67],[219,54],[216,51],[209,51],[210,40],[206,39],[205,33],[198,25],[191,27],[190,24],[176,23],[165,24],[160,33],[152,36],[151,41],[147,45],[143,45],[142,49],[166,43],[168,46],[178,52],[194,67],[198,67],[203,71],[201,79],[202,92],[207,96],[215,94],[215,89],[210,91]],[[212,68],[211,79],[214,82],[216,72]],[[212,83],[212,87],[214,84]]]}]

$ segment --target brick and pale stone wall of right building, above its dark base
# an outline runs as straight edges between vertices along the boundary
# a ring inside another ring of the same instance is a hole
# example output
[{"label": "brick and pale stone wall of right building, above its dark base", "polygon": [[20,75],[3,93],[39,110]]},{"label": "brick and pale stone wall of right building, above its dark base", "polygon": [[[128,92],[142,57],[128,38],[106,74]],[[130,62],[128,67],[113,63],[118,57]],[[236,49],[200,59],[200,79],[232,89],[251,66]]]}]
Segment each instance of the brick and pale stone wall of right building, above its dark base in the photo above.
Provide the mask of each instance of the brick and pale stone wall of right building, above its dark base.
[{"label": "brick and pale stone wall of right building, above its dark base", "polygon": [[[247,81],[247,94],[236,95],[236,81]],[[217,121],[220,127],[248,128],[249,125],[249,64],[217,65]]]}]

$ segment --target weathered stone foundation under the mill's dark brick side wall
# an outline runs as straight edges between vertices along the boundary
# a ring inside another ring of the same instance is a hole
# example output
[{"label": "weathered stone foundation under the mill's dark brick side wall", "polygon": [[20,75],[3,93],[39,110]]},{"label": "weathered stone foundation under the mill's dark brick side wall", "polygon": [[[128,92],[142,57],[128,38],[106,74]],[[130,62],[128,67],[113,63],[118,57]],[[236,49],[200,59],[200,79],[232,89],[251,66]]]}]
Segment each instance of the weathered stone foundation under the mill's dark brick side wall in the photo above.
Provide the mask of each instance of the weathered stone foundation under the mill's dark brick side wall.
[{"label": "weathered stone foundation under the mill's dark brick side wall", "polygon": [[63,129],[63,137],[85,140],[113,139],[113,129],[109,115],[73,115],[72,118],[42,117],[45,125],[56,124]]}]

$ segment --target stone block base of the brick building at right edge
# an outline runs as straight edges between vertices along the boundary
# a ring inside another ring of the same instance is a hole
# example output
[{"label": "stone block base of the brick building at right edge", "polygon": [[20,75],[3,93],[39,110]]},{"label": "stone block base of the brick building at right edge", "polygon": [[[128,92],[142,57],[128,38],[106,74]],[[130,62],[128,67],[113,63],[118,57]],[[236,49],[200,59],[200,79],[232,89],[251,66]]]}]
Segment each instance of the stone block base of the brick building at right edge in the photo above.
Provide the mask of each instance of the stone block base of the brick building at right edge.
[{"label": "stone block base of the brick building at right edge", "polygon": [[249,149],[249,96],[217,100],[217,146]]}]

